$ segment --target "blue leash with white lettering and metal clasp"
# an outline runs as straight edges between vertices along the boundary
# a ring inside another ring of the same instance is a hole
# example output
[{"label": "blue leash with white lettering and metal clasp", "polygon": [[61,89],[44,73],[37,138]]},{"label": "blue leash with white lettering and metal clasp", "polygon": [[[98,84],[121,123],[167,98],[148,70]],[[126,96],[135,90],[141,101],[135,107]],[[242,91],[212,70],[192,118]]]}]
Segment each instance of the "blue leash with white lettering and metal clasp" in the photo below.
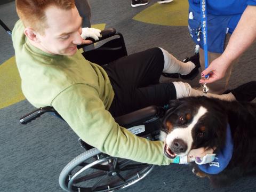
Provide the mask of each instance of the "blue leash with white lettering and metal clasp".
[{"label": "blue leash with white lettering and metal clasp", "polygon": [[[204,45],[204,65],[205,69],[208,67],[208,45],[207,45],[207,9],[206,9],[206,0],[200,1],[201,9],[201,29],[203,36],[203,45]],[[205,75],[205,78],[209,78],[209,75]],[[206,86],[206,83],[203,85],[203,95],[206,96],[209,88]]]}]

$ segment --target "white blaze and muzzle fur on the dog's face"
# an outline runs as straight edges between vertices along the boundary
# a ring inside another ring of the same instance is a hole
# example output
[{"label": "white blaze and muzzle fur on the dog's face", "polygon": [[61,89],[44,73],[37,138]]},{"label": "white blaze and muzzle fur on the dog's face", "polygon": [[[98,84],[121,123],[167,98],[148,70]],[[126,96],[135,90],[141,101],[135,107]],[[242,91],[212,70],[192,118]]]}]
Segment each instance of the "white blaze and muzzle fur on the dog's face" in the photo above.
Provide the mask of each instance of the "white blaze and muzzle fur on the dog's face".
[{"label": "white blaze and muzzle fur on the dog's face", "polygon": [[193,143],[192,129],[205,113],[207,113],[207,109],[201,106],[198,109],[197,114],[194,116],[193,121],[187,127],[174,127],[173,131],[167,134],[166,144],[171,146],[174,139],[182,139],[187,143],[188,149],[185,151],[185,153],[181,153],[179,155],[187,155],[191,150]]}]

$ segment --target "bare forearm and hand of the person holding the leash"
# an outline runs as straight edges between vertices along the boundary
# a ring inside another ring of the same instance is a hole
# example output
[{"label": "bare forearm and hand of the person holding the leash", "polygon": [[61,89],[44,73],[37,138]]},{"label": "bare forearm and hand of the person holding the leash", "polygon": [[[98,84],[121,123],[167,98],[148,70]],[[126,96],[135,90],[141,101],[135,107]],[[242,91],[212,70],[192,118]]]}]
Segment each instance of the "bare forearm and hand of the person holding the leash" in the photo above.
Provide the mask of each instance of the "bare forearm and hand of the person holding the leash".
[{"label": "bare forearm and hand of the person holding the leash", "polygon": [[231,35],[225,51],[213,60],[201,76],[210,73],[209,79],[200,79],[199,83],[212,83],[221,79],[230,64],[254,42],[256,38],[256,6],[248,5]]}]

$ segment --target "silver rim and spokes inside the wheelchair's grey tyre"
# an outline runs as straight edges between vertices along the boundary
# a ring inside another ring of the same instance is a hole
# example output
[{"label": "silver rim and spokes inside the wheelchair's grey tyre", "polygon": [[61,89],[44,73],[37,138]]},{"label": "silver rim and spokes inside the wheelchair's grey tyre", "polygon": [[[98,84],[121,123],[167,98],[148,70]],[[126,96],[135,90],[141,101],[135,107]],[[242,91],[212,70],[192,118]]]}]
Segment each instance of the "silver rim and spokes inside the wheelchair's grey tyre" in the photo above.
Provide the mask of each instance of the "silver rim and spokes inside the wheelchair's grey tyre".
[{"label": "silver rim and spokes inside the wheelchair's grey tyre", "polygon": [[[78,166],[82,168],[74,174],[71,173]],[[103,156],[92,163],[83,162],[78,166],[70,172],[66,180],[69,191],[99,192],[122,189],[143,179],[153,169],[153,165],[111,156]]]}]

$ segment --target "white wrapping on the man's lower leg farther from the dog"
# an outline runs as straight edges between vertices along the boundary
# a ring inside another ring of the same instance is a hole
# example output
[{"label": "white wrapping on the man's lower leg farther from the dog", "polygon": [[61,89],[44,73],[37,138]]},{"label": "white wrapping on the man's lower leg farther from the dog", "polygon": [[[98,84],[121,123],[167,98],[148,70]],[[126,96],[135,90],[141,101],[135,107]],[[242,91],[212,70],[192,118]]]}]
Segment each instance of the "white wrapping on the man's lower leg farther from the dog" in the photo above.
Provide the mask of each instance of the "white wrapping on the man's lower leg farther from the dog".
[{"label": "white wrapping on the man's lower leg farther from the dog", "polygon": [[162,49],[159,47],[159,49],[162,50],[164,55],[164,69],[163,73],[179,73],[181,75],[187,75],[190,73],[191,70],[195,68],[195,65],[193,62],[189,61],[186,63],[183,63],[173,57],[172,54],[170,54],[168,51]]}]

